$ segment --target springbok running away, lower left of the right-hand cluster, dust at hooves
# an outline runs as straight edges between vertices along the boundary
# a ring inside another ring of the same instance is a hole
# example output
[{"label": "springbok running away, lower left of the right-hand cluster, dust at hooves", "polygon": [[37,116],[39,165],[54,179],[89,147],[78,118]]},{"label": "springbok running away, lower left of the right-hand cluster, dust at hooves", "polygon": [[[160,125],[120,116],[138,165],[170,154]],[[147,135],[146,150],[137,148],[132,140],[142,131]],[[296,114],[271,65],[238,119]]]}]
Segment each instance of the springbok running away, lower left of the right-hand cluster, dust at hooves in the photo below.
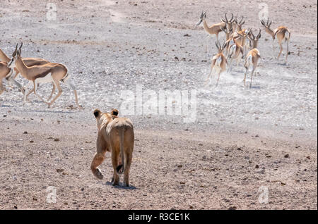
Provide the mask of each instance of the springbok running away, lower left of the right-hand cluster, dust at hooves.
[{"label": "springbok running away, lower left of the right-hand cluster, dust at hooves", "polygon": [[[218,49],[218,54],[213,56],[211,58],[211,72],[208,75],[208,78],[206,79],[206,84],[211,82],[210,77],[214,71],[218,74],[218,80],[220,79],[220,73],[223,73],[226,70],[226,65],[228,61],[226,61],[226,58],[223,54],[223,49],[225,47],[225,44],[223,46],[220,46],[220,42],[216,42],[216,47]],[[216,81],[216,87],[218,86],[218,80]]]}]

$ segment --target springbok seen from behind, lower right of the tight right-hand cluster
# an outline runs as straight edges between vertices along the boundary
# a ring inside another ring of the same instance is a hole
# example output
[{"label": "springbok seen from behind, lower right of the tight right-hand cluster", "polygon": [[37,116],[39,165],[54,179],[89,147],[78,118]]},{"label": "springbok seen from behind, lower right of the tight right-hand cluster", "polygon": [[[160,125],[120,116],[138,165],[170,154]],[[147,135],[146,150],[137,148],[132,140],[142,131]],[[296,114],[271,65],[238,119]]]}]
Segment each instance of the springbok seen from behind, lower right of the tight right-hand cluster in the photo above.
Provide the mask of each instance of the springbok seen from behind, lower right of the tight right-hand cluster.
[{"label": "springbok seen from behind, lower right of the tight right-hand cluster", "polygon": [[261,38],[261,30],[259,30],[259,34],[257,37],[253,35],[252,30],[250,31],[250,37],[249,41],[252,43],[252,50],[247,53],[247,56],[245,57],[245,74],[244,74],[244,85],[246,85],[246,75],[249,70],[249,67],[252,66],[252,73],[251,73],[251,82],[249,83],[249,87],[252,87],[252,79],[255,69],[257,68],[259,58],[261,58],[261,55],[259,54],[259,50],[257,49],[257,42]]}]

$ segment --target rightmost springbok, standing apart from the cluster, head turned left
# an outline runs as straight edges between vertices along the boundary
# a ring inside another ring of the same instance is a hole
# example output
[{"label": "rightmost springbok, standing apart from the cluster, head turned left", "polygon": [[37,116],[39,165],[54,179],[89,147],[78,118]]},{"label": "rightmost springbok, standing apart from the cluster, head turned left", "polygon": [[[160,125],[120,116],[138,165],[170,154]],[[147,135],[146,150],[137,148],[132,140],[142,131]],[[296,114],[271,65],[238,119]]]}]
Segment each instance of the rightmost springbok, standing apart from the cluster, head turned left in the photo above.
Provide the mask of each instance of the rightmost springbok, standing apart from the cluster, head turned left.
[{"label": "rightmost springbok, standing apart from the cluster, head turned left", "polygon": [[271,30],[271,22],[269,18],[267,18],[267,21],[261,20],[261,25],[265,27],[265,32],[267,32],[271,37],[273,38],[273,57],[275,58],[275,39],[277,39],[277,42],[279,46],[281,47],[281,51],[279,51],[277,60],[279,60],[279,57],[281,56],[281,52],[283,51],[283,42],[286,42],[286,58],[285,58],[285,64],[287,64],[287,57],[288,57],[288,44],[290,40],[290,30],[288,30],[288,27],[277,27],[275,30]]}]

